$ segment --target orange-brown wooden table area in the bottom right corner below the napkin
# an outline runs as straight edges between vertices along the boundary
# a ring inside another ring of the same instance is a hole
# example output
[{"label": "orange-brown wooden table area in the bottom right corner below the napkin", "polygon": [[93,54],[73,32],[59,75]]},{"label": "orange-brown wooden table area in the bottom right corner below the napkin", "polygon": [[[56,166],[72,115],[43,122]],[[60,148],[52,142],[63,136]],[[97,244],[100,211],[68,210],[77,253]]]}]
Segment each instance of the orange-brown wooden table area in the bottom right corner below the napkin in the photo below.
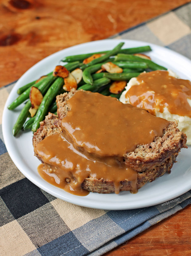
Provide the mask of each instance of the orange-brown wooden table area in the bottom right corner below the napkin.
[{"label": "orange-brown wooden table area in the bottom right corner below the napkin", "polygon": [[191,255],[191,205],[140,233],[105,256]]}]

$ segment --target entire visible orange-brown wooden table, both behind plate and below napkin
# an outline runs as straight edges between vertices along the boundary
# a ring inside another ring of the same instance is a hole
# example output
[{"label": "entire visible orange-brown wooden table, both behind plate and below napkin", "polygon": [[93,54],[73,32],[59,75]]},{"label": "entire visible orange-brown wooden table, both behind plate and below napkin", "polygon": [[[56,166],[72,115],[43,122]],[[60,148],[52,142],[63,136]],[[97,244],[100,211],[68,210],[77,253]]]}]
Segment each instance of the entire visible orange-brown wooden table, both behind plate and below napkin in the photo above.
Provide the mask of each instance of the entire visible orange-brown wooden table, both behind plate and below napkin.
[{"label": "entire visible orange-brown wooden table, both behind plate and below napkin", "polygon": [[[0,87],[63,48],[104,39],[190,1],[1,0]],[[105,255],[191,255],[191,205]]]}]

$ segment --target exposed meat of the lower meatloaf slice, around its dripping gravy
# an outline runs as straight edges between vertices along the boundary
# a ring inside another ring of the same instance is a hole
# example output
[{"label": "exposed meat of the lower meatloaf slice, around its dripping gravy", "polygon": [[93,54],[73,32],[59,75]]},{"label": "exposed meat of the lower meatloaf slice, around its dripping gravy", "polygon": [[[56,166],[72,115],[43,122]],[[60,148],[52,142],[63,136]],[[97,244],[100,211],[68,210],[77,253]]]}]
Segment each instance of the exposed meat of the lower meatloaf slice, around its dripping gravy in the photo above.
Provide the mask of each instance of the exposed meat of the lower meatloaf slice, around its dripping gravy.
[{"label": "exposed meat of the lower meatloaf slice, around its dripping gravy", "polygon": [[[58,117],[56,117],[56,115],[49,113],[46,116],[45,120],[40,123],[39,129],[34,133],[34,136],[33,136],[34,151],[35,151],[36,145],[40,141],[42,141],[46,136],[60,133],[61,129],[59,128],[58,121],[59,120],[58,120]],[[138,189],[141,188],[148,181],[152,182],[157,177],[160,177],[163,174],[165,174],[165,172],[170,173],[170,169],[173,166],[173,163],[175,162],[177,155],[178,155],[178,152],[175,152],[169,158],[167,158],[163,164],[159,164],[158,166],[155,165],[155,168],[138,172],[137,188]],[[36,153],[35,153],[35,156],[38,157],[41,162],[43,162],[42,159],[40,159],[40,157]],[[102,194],[108,194],[115,191],[114,183],[110,180],[104,180],[104,179],[98,180],[95,178],[85,178],[85,180],[82,183],[82,187],[87,191],[97,192]],[[131,190],[130,182],[127,180],[121,181],[120,190],[121,191]]]}]

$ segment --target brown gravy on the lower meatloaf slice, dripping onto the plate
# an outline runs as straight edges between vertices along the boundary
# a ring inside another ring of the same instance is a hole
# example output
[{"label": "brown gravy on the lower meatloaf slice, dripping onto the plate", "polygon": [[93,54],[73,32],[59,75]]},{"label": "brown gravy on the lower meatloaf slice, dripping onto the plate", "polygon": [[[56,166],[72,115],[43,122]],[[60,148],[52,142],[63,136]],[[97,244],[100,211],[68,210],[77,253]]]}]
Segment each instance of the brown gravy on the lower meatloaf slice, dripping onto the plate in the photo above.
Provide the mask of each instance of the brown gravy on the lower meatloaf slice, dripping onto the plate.
[{"label": "brown gravy on the lower meatloaf slice, dripping onto the plate", "polygon": [[[137,172],[128,168],[124,162],[114,157],[93,158],[76,150],[71,143],[59,134],[46,137],[37,147],[36,152],[46,162],[39,167],[39,173],[49,183],[63,188],[75,195],[87,195],[81,184],[84,179],[101,179],[114,181],[115,192],[120,190],[120,181],[131,182],[132,191],[136,192]],[[67,179],[67,180],[66,180]],[[69,181],[69,183],[67,183]]]}]

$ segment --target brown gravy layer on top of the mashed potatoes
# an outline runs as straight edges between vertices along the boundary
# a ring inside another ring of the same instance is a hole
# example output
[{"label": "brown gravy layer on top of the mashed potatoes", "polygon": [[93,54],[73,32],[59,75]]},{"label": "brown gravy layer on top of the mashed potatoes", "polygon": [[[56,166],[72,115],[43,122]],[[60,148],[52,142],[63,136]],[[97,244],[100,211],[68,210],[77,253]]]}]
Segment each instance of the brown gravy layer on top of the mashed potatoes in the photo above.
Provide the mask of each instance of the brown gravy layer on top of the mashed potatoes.
[{"label": "brown gravy layer on top of the mashed potatoes", "polygon": [[140,85],[132,86],[125,97],[135,107],[141,107],[152,115],[167,107],[171,114],[191,117],[191,82],[169,76],[168,71],[152,71],[137,77]]}]

